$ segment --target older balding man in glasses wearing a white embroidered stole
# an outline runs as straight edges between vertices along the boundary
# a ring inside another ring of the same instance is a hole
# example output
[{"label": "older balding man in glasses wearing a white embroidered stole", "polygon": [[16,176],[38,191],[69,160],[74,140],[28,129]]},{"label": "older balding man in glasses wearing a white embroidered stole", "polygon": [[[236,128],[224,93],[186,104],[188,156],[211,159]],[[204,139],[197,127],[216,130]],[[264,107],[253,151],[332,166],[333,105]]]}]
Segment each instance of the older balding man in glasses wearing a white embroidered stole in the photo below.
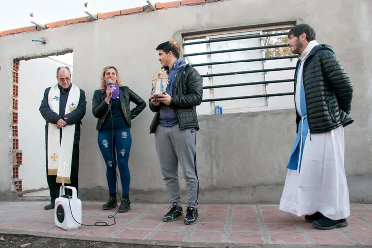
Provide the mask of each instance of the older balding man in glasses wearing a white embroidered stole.
[{"label": "older balding man in glasses wearing a white embroidered stole", "polygon": [[62,183],[78,191],[80,124],[85,108],[85,93],[71,83],[69,68],[58,67],[57,84],[45,89],[39,108],[46,120],[46,169],[51,196],[45,210],[54,208]]}]

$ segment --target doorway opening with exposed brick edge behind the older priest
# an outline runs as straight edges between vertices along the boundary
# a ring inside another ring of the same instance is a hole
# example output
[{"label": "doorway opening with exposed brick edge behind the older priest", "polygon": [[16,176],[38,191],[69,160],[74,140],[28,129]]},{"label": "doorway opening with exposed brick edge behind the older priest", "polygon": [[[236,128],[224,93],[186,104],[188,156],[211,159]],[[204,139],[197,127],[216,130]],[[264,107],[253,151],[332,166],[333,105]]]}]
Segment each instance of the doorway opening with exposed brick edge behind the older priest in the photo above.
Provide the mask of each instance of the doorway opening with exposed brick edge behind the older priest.
[{"label": "doorway opening with exposed brick edge behind the older priest", "polygon": [[69,67],[72,77],[73,52],[14,60],[14,64],[14,186],[21,197],[49,197],[45,167],[45,120],[39,112],[39,107],[44,90],[57,83],[58,67]]}]

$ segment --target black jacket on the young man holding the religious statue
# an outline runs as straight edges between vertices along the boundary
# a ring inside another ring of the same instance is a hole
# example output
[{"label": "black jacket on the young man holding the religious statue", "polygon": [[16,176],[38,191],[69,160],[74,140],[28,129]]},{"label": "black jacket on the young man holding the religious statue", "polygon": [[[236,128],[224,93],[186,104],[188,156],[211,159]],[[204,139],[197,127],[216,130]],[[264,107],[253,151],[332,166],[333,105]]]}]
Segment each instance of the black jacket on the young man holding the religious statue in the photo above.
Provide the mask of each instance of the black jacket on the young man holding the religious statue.
[{"label": "black jacket on the young man holding the religious statue", "polygon": [[[199,129],[197,121],[196,106],[201,104],[203,99],[203,79],[189,64],[180,68],[177,73],[173,95],[170,106],[175,108],[180,130],[187,128]],[[150,133],[155,133],[159,123],[159,111],[163,103],[155,106],[149,100],[151,111],[157,112],[150,126]]]}]

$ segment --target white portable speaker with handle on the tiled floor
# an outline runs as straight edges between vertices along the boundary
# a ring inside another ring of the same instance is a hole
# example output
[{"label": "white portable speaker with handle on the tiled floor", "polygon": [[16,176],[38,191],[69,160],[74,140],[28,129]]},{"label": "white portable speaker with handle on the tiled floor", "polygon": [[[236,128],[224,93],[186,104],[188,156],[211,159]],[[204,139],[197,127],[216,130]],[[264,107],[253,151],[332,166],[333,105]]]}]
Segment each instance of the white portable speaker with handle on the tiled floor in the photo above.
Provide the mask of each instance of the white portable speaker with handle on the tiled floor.
[{"label": "white portable speaker with handle on the tiled floor", "polygon": [[[72,194],[68,193],[67,189],[70,189],[68,191],[72,191]],[[77,198],[76,188],[61,186],[60,197],[54,202],[54,223],[57,227],[75,230],[81,226],[72,218],[71,210],[75,220],[81,223],[81,200]]]}]

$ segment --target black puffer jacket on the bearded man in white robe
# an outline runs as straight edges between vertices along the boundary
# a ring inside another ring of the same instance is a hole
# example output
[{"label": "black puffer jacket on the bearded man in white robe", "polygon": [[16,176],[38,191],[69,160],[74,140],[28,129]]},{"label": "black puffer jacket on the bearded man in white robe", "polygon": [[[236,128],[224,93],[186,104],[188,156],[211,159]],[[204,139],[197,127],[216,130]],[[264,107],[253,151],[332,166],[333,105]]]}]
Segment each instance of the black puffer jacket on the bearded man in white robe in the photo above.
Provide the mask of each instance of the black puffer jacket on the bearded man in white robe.
[{"label": "black puffer jacket on the bearded man in white robe", "polygon": [[[353,86],[331,46],[320,44],[311,50],[303,66],[303,81],[310,133],[327,132],[354,121],[348,115]],[[297,114],[297,125],[300,119]]]}]

